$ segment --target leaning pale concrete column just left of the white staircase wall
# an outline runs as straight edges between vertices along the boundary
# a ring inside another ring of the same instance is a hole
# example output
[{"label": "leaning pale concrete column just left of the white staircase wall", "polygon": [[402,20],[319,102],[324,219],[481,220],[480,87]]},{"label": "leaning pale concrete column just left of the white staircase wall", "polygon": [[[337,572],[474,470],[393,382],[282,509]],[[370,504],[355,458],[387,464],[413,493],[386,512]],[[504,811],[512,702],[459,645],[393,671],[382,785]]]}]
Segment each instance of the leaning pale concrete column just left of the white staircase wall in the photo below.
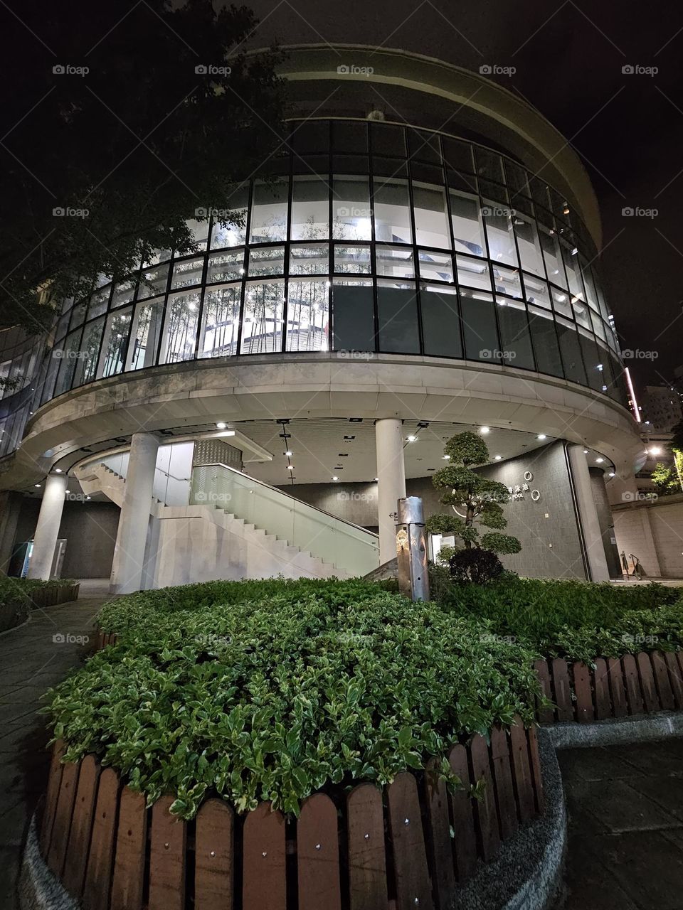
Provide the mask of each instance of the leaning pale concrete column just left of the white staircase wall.
[{"label": "leaning pale concrete column just left of the white staircase wall", "polygon": [[110,590],[114,594],[129,594],[142,587],[157,452],[158,439],[155,436],[150,433],[133,434],[111,568]]}]

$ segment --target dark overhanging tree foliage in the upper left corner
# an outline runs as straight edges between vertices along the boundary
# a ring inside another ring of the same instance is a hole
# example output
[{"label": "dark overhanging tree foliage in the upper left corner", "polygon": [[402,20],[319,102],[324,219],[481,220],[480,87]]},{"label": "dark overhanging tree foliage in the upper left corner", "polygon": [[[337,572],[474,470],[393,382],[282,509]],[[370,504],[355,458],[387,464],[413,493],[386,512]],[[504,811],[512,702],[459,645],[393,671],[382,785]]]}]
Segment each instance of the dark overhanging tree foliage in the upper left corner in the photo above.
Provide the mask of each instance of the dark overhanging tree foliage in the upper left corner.
[{"label": "dark overhanging tree foliage in the upper left corner", "polygon": [[33,332],[94,276],[125,277],[155,248],[192,251],[198,209],[234,223],[236,184],[277,157],[282,86],[276,52],[243,53],[257,26],[244,6],[10,3],[0,326]]}]

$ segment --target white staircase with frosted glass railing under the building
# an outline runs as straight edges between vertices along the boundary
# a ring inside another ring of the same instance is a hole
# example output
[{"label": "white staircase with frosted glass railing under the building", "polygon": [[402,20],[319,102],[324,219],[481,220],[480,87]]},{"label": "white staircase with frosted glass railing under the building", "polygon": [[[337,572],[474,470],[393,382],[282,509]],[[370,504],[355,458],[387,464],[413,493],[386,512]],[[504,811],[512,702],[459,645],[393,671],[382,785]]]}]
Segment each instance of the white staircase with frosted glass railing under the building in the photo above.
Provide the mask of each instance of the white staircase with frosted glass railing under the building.
[{"label": "white staircase with frosted glass railing under the building", "polygon": [[[126,478],[106,460],[75,473],[84,492],[102,492],[121,507]],[[149,514],[154,587],[274,575],[351,578],[379,564],[376,534],[227,465],[194,469],[189,504],[152,499]]]}]

